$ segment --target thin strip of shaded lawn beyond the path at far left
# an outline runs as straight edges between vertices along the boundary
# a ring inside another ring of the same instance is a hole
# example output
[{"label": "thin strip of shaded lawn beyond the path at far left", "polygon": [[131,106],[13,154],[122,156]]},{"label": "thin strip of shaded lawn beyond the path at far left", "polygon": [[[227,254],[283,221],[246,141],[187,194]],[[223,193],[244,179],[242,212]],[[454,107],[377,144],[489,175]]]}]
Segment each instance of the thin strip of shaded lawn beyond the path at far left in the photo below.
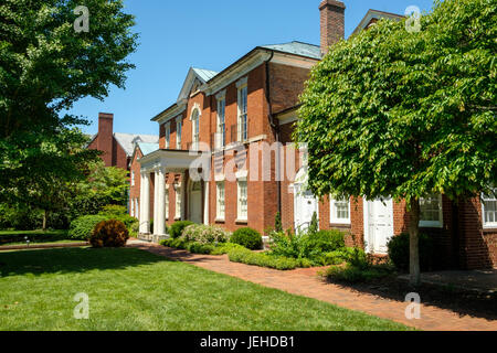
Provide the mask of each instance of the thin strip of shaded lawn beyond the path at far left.
[{"label": "thin strip of shaded lawn beyond the path at far left", "polygon": [[68,239],[67,231],[0,231],[0,246],[25,245],[25,237],[30,245],[75,242]]}]

